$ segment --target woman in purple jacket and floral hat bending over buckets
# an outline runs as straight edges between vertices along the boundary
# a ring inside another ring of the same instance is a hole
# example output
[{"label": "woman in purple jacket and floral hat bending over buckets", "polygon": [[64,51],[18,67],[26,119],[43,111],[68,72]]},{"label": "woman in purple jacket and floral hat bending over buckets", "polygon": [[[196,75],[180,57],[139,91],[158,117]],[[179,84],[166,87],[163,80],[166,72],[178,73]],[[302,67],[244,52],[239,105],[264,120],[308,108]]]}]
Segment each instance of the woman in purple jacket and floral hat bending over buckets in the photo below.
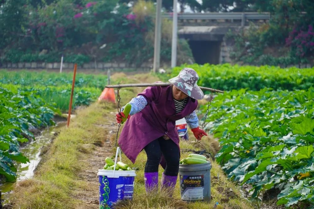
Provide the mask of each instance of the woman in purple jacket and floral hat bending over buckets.
[{"label": "woman in purple jacket and floral hat bending over buckets", "polygon": [[[165,169],[160,187],[173,190],[176,185],[180,161],[176,120],[184,117],[198,140],[207,136],[198,127],[195,113],[197,99],[204,97],[197,85],[198,74],[191,68],[184,68],[169,81],[172,85],[148,87],[129,102],[132,106],[130,115],[133,116],[128,117],[118,141],[133,163],[138,154],[145,150],[147,162],[144,181],[147,193],[158,187],[159,164]],[[118,113],[116,121],[121,123],[124,117],[123,112]]]}]

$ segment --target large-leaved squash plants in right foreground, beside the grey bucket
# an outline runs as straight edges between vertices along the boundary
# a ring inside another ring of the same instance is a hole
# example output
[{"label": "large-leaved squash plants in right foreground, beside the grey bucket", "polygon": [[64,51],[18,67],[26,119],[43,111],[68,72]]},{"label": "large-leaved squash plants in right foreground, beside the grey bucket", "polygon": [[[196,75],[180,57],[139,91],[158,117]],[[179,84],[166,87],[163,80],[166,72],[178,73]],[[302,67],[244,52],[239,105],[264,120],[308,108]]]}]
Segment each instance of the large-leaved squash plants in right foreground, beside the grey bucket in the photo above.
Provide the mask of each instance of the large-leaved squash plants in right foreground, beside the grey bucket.
[{"label": "large-leaved squash plants in right foreground, beside the grey bucket", "polygon": [[217,162],[229,178],[252,185],[253,197],[277,189],[277,204],[313,204],[313,114],[314,88],[233,90],[212,101],[206,129],[220,138]]}]

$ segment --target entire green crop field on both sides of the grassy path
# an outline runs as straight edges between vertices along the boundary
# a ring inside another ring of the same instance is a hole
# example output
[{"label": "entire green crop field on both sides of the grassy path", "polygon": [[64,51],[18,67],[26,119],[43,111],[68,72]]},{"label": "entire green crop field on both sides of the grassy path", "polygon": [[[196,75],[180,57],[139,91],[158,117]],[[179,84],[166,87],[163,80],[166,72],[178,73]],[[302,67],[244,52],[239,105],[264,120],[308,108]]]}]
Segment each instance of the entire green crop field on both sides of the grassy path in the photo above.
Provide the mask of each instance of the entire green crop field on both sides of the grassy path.
[{"label": "entire green crop field on both sides of the grassy path", "polygon": [[[314,205],[314,69],[186,65],[160,79],[183,67],[198,72],[200,86],[225,91],[214,94],[205,130],[218,138],[216,159],[229,180],[250,185],[253,198],[276,191],[278,205]],[[106,79],[78,74],[73,108],[93,103]],[[0,174],[14,181],[14,162],[28,161],[19,143],[34,137],[30,127],[51,126],[55,114],[68,110],[72,74],[1,71],[0,81]],[[198,113],[206,109],[201,105]]]}]

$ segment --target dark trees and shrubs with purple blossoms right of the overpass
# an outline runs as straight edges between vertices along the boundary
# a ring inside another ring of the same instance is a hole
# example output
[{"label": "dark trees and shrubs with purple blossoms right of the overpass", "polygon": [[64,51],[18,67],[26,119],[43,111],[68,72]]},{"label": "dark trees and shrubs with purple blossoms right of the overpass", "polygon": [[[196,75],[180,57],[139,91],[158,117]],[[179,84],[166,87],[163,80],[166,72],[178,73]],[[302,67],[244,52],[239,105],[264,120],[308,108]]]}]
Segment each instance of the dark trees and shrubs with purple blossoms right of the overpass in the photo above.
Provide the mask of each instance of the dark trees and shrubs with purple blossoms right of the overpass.
[{"label": "dark trees and shrubs with purple blossoms right of the overpass", "polygon": [[[269,23],[251,25],[231,35],[234,58],[251,64],[290,65],[311,62],[314,55],[314,13],[311,0],[257,1],[257,11],[269,11]],[[268,49],[272,48],[272,52]],[[266,51],[265,51],[266,50]]]}]

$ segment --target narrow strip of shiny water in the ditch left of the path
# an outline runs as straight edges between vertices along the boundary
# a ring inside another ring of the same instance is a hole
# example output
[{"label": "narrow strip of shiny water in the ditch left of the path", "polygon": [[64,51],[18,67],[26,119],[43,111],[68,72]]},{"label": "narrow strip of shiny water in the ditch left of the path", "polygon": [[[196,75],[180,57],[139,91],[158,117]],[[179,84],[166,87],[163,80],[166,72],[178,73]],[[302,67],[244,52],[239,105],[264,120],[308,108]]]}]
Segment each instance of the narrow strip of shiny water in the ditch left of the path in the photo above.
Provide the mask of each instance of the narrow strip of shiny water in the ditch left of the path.
[{"label": "narrow strip of shiny water in the ditch left of the path", "polygon": [[[54,133],[57,132],[61,127],[66,125],[66,121],[58,122],[56,126],[51,126],[46,128],[41,132],[40,136],[35,137],[35,140],[27,143],[24,147],[20,148],[21,153],[25,157],[27,157],[30,162],[29,163],[17,163],[17,178],[16,181],[29,179],[33,176],[34,170],[38,163],[41,160],[41,148],[44,145],[50,143],[51,139],[54,136]],[[3,204],[9,203],[9,197],[12,193],[11,191],[14,189],[14,182],[13,183],[4,183],[1,185],[0,182],[0,191],[2,193],[1,199]]]}]

